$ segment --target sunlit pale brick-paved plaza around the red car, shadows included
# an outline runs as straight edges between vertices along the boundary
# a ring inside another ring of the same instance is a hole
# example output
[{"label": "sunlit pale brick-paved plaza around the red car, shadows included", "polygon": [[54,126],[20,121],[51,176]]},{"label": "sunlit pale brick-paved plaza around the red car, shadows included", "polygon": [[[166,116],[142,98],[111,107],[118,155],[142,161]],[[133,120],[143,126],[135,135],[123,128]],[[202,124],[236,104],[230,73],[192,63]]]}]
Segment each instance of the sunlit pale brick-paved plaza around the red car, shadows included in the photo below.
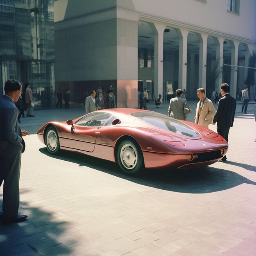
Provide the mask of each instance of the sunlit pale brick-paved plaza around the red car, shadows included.
[{"label": "sunlit pale brick-paved plaza around the red car, shadows included", "polygon": [[[190,103],[189,121],[195,103]],[[166,114],[166,106],[157,111]],[[128,177],[101,159],[49,155],[35,134],[25,137],[19,213],[29,217],[19,224],[0,224],[0,255],[255,255],[252,107],[248,115],[237,107],[228,161],[198,170],[152,170]],[[156,110],[152,104],[149,109]],[[36,117],[20,119],[21,128],[34,133],[47,120],[83,113],[36,111]]]}]

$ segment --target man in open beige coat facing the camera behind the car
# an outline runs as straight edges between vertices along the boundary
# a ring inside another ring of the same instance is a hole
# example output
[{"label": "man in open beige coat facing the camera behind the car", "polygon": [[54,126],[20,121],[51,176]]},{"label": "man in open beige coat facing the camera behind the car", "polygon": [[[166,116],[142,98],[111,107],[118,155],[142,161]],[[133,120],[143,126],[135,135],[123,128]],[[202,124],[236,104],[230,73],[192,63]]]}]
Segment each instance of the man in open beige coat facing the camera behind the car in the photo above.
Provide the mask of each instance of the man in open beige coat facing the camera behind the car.
[{"label": "man in open beige coat facing the camera behind the car", "polygon": [[208,128],[208,125],[212,124],[216,111],[212,101],[205,97],[204,88],[198,89],[198,98],[200,101],[196,105],[195,124],[200,124],[201,126]]}]

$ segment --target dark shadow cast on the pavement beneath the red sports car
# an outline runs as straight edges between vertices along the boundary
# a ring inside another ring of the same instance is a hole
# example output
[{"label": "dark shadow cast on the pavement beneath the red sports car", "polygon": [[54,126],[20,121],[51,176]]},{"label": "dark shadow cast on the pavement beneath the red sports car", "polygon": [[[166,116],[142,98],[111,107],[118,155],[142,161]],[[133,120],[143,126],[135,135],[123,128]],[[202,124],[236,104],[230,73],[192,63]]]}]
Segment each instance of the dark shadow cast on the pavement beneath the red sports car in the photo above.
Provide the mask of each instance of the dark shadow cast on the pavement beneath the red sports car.
[{"label": "dark shadow cast on the pavement beneath the red sports car", "polygon": [[166,191],[212,193],[230,189],[243,183],[256,185],[256,182],[248,180],[235,172],[212,166],[190,170],[146,169],[142,175],[132,177],[123,173],[117,164],[96,157],[69,151],[61,151],[58,155],[52,155],[47,151],[47,148],[40,148],[39,151],[49,157],[73,162],[79,164],[79,166],[87,166],[130,182]]}]

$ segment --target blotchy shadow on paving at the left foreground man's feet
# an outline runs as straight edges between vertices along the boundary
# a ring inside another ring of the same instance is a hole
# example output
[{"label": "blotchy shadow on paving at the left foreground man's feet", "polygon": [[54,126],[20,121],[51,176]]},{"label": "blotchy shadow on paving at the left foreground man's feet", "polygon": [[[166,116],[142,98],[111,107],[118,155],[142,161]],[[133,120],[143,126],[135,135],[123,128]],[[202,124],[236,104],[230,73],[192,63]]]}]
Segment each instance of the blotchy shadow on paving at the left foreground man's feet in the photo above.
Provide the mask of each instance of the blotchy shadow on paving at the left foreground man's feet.
[{"label": "blotchy shadow on paving at the left foreground man's feet", "polygon": [[[26,193],[21,190],[20,193]],[[1,195],[2,196],[2,195]],[[0,203],[2,208],[2,202]],[[28,215],[24,222],[3,225],[0,222],[0,255],[69,255],[74,244],[70,237],[65,239],[64,221],[56,221],[52,213],[31,207],[25,202],[20,203],[20,211]]]}]

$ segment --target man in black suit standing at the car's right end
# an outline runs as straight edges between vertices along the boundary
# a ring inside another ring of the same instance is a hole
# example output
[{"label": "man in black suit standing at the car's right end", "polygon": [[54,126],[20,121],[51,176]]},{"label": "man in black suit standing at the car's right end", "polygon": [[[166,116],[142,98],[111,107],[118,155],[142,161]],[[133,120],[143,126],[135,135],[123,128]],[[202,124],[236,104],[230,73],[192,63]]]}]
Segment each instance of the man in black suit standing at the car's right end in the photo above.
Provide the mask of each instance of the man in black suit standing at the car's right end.
[{"label": "man in black suit standing at the car's right end", "polygon": [[[229,90],[227,83],[220,85],[222,98],[219,99],[217,112],[212,122],[213,125],[217,122],[217,132],[227,142],[229,141],[229,128],[233,126],[236,113],[236,99],[229,94]],[[224,156],[221,160],[226,161],[227,157]]]}]

